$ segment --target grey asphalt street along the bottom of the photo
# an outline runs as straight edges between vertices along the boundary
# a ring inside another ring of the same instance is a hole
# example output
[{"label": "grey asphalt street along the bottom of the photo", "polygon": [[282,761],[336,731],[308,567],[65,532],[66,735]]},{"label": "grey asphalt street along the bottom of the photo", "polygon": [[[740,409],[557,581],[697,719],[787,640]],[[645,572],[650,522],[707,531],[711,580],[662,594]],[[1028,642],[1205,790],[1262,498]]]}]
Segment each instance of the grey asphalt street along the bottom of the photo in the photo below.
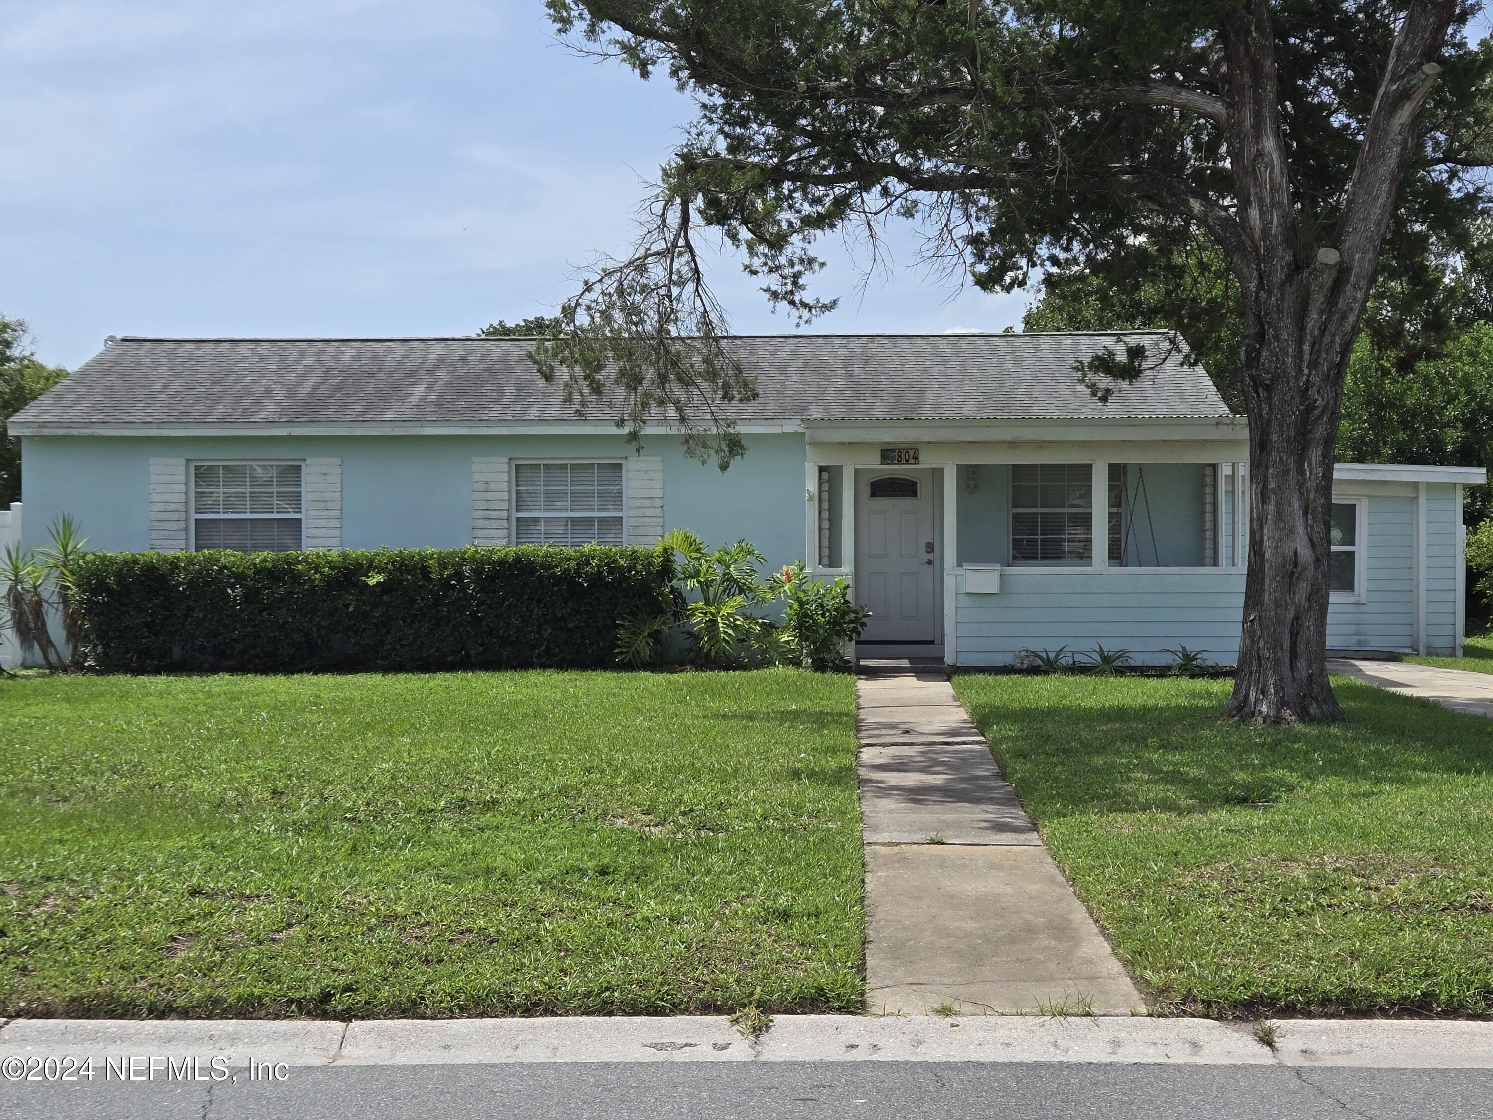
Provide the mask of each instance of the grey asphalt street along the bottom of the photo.
[{"label": "grey asphalt street along the bottom of the photo", "polygon": [[299,1066],[167,1083],[3,1084],[0,1117],[45,1120],[1280,1120],[1493,1113],[1489,1069],[990,1062]]}]

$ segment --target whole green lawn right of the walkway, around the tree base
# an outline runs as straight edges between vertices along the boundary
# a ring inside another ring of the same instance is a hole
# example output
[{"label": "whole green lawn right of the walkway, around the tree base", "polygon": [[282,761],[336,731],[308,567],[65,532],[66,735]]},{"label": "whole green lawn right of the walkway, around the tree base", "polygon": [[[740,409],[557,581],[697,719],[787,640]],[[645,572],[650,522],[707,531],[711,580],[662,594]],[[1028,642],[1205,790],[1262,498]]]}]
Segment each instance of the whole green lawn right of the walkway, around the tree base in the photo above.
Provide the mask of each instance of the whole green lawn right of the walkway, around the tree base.
[{"label": "whole green lawn right of the walkway, around the tree base", "polygon": [[1493,1012],[1493,720],[1335,679],[1251,729],[1229,681],[956,688],[1163,1011]]}]

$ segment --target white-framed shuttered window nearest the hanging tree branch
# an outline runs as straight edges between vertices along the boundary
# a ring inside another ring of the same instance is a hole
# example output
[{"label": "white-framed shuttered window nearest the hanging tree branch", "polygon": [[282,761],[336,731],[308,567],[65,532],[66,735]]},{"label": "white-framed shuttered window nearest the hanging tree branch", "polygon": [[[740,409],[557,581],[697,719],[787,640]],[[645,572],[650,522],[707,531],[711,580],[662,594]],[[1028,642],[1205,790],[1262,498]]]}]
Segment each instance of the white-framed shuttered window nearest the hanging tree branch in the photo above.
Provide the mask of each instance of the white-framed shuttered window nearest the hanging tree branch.
[{"label": "white-framed shuttered window nearest the hanging tree branch", "polygon": [[517,463],[514,544],[620,545],[621,463]]}]

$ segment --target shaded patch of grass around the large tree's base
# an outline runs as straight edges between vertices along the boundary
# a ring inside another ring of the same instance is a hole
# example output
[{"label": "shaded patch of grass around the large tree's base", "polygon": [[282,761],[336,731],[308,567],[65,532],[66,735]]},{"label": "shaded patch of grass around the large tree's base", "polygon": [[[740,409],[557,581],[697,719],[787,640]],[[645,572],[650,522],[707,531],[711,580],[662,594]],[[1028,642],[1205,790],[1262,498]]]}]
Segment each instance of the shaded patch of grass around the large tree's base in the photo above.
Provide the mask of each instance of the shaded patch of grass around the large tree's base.
[{"label": "shaded patch of grass around the large tree's base", "polygon": [[1348,723],[1284,727],[1224,720],[1217,682],[1009,681],[970,681],[961,694],[1038,823],[1263,808],[1329,780],[1342,796],[1371,796],[1493,766],[1493,720],[1353,681],[1335,681]]}]

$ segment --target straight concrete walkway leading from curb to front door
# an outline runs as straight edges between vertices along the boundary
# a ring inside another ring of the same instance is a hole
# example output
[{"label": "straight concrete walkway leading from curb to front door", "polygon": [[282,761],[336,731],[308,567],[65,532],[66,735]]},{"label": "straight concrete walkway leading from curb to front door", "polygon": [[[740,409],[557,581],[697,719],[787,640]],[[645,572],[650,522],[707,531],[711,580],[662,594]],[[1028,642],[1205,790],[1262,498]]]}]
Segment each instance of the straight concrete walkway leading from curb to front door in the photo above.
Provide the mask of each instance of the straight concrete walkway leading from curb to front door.
[{"label": "straight concrete walkway leading from curb to front door", "polygon": [[872,1012],[1144,1012],[948,676],[857,693]]}]

